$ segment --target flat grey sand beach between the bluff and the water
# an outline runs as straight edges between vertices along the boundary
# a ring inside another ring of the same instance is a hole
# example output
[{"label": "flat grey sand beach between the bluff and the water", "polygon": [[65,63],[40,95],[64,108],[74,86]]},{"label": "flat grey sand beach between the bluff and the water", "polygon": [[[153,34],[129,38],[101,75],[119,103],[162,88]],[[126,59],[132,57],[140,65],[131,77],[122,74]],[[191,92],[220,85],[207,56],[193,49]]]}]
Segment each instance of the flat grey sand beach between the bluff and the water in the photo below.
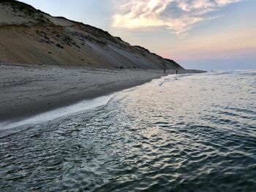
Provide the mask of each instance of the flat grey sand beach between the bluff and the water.
[{"label": "flat grey sand beach between the bluff and the water", "polygon": [[[179,74],[198,72],[203,71],[179,70]],[[23,120],[167,74],[176,71],[0,64],[0,122]]]}]

